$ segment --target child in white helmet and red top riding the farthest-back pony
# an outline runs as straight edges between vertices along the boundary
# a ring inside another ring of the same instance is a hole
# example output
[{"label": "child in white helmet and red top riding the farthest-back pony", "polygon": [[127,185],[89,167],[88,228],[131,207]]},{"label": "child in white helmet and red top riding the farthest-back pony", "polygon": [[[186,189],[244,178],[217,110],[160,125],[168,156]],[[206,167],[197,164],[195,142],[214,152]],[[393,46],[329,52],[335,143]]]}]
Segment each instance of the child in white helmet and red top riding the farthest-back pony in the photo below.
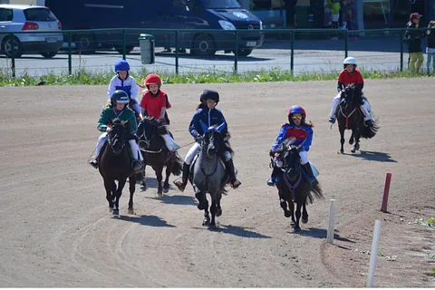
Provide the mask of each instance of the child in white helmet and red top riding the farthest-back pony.
[{"label": "child in white helmet and red top riding the farthest-back pony", "polygon": [[342,96],[342,92],[344,88],[354,83],[356,85],[356,89],[361,93],[362,96],[362,105],[360,106],[362,113],[364,114],[364,123],[369,126],[372,124],[372,115],[370,104],[367,102],[365,98],[363,98],[362,88],[364,86],[364,80],[362,79],[362,74],[356,68],[357,63],[353,57],[346,57],[343,61],[343,72],[338,76],[338,85],[337,90],[338,94],[333,98],[333,105],[331,108],[331,112],[329,113],[329,121],[331,123],[335,122],[335,116],[337,112],[338,104],[340,103],[340,98]]}]

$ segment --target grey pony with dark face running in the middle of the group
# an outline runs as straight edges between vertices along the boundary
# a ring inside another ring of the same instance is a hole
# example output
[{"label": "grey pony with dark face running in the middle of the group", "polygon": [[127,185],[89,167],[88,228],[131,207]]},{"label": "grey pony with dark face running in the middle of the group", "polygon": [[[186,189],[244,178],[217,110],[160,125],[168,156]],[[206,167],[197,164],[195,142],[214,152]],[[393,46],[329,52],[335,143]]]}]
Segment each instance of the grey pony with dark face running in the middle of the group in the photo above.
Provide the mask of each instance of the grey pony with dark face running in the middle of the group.
[{"label": "grey pony with dark face running in the middle of the group", "polygon": [[[225,122],[219,126],[208,128],[206,124],[200,121],[204,135],[200,140],[200,150],[195,160],[190,165],[189,181],[195,191],[195,197],[198,199],[198,209],[204,210],[203,226],[209,229],[216,228],[216,217],[222,215],[220,199],[222,193],[226,192],[229,175],[225,168],[221,156],[226,151],[233,154],[229,142],[224,139],[221,130],[227,125]],[[211,219],[208,212],[207,193],[211,197]]]}]

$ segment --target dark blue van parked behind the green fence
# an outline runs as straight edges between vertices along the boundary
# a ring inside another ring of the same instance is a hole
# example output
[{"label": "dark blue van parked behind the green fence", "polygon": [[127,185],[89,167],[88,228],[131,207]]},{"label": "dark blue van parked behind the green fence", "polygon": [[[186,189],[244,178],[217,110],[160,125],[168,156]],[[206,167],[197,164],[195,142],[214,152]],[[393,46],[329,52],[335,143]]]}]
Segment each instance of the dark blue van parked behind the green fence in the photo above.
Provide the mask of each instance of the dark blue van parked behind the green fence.
[{"label": "dark blue van parked behind the green fence", "polygon": [[[139,46],[139,34],[155,36],[157,47],[175,47],[174,32],[152,29],[192,31],[179,32],[179,48],[189,48],[196,55],[213,55],[217,51],[248,55],[264,41],[262,23],[237,0],[45,0],[63,24],[63,30],[134,28],[126,37],[127,53]],[[215,32],[200,32],[214,29]],[[234,30],[237,33],[237,42]],[[65,38],[68,39],[68,38]],[[73,43],[82,51],[97,47],[122,52],[122,35],[111,32],[73,34]]]}]

